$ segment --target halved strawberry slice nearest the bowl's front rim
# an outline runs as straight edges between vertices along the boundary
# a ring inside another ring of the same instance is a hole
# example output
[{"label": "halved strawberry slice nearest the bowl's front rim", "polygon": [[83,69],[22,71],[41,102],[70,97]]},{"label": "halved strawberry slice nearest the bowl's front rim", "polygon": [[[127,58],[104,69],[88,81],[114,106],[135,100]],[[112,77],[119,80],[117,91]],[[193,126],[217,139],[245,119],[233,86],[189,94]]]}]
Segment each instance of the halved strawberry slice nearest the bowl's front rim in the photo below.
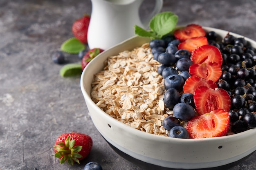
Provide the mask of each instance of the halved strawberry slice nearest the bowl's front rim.
[{"label": "halved strawberry slice nearest the bowl's front rim", "polygon": [[220,137],[229,130],[229,113],[216,109],[188,121],[186,129],[191,138]]}]

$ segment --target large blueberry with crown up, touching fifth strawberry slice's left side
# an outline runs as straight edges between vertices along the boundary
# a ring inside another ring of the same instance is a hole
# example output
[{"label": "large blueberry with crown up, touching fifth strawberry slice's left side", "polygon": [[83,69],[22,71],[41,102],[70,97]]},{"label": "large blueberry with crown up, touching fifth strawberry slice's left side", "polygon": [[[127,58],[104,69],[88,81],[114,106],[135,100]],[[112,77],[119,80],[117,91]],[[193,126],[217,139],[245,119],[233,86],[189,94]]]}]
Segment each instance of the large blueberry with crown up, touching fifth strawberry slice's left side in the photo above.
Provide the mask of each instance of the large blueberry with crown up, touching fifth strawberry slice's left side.
[{"label": "large blueberry with crown up, touching fifth strawberry slice's left side", "polygon": [[184,86],[184,79],[181,75],[169,75],[164,79],[164,87],[166,90],[169,88],[175,88],[177,91],[181,92]]}]

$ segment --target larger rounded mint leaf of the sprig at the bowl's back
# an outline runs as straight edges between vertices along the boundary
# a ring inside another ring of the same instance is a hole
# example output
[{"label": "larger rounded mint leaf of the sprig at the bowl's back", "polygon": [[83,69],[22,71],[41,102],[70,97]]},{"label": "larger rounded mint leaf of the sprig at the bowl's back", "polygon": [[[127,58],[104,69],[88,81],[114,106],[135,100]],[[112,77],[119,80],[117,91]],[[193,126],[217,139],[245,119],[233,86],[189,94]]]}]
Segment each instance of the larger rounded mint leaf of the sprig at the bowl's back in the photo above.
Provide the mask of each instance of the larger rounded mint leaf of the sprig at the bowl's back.
[{"label": "larger rounded mint leaf of the sprig at the bowl's back", "polygon": [[155,15],[149,23],[149,28],[154,31],[156,38],[170,33],[178,22],[178,16],[172,12],[162,12]]}]

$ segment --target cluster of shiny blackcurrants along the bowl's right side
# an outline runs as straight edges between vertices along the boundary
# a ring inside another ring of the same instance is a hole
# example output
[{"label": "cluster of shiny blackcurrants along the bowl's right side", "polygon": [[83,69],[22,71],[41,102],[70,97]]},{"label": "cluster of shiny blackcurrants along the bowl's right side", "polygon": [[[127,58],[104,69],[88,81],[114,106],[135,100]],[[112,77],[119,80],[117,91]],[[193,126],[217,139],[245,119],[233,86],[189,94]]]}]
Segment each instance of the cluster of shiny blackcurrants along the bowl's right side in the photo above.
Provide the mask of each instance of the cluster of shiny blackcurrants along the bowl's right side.
[{"label": "cluster of shiny blackcurrants along the bowl's right side", "polygon": [[227,35],[220,39],[207,33],[209,44],[222,53],[222,75],[218,88],[231,97],[230,127],[234,133],[256,127],[256,49],[244,37]]}]

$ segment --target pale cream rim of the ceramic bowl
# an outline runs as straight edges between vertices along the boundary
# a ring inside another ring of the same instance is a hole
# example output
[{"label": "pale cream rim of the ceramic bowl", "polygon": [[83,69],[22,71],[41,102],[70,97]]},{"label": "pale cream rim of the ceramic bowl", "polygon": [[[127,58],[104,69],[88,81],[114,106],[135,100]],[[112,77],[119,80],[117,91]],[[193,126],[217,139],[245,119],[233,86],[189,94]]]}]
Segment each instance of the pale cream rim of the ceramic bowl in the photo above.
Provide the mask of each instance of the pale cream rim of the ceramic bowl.
[{"label": "pale cream rim of the ceramic bowl", "polygon": [[[182,27],[182,26],[179,26],[179,28]],[[243,37],[245,38],[245,40],[249,41],[252,46],[254,46],[256,48],[256,41],[250,39],[250,38],[247,38],[243,35],[239,35],[239,34],[236,34],[236,33],[232,33],[230,31],[225,31],[225,30],[222,30],[222,29],[216,29],[216,28],[212,28],[212,27],[207,27],[207,26],[202,26],[202,28],[205,30],[205,31],[216,31],[217,34],[231,34],[231,35],[234,35],[236,37]],[[81,74],[81,79],[80,79],[80,86],[81,86],[81,91],[83,93],[83,96],[85,98],[85,102],[86,102],[86,105],[91,105],[94,109],[96,109],[99,113],[101,113],[102,116],[104,116],[106,119],[112,121],[112,123],[115,123],[115,125],[117,126],[120,126],[121,128],[124,128],[124,129],[127,129],[129,131],[131,131],[132,133],[134,133],[135,135],[138,135],[138,136],[141,136],[143,138],[148,138],[150,140],[164,140],[164,141],[173,141],[173,142],[182,142],[182,143],[190,143],[191,141],[202,141],[202,142],[209,142],[209,141],[220,141],[220,140],[225,140],[225,139],[233,139],[233,138],[246,138],[247,136],[250,136],[252,134],[256,134],[256,128],[253,128],[253,129],[249,129],[249,130],[246,130],[244,132],[240,132],[240,133],[237,133],[237,134],[232,134],[232,135],[226,135],[226,136],[221,136],[221,137],[211,137],[211,138],[197,138],[197,139],[192,139],[192,138],[189,138],[189,139],[179,139],[179,138],[172,138],[172,137],[166,137],[166,136],[160,136],[160,135],[155,135],[155,134],[150,134],[150,133],[147,133],[147,132],[143,132],[141,130],[138,130],[138,129],[135,129],[135,128],[132,128],[131,126],[128,126],[124,123],[122,123],[121,121],[118,121],[117,119],[111,117],[110,115],[108,115],[108,113],[104,112],[103,110],[101,110],[101,108],[99,108],[91,99],[91,94],[87,93],[86,90],[85,90],[85,85],[84,85],[84,79],[85,79],[85,72],[88,72],[88,70],[90,70],[90,68],[92,67],[92,65],[94,63],[97,63],[97,60],[99,60],[99,58],[103,55],[105,55],[105,53],[107,53],[110,49],[112,48],[115,48],[115,47],[118,47],[120,46],[121,44],[123,44],[124,42],[127,42],[127,41],[130,41],[134,38],[141,38],[137,35],[135,36],[132,36],[131,38],[128,38],[127,40],[124,40],[123,42],[120,42],[119,44],[116,44],[115,46],[112,46],[110,47],[109,49],[106,49],[105,51],[103,51],[102,53],[100,53],[99,55],[97,55],[97,57],[94,57],[94,59],[92,61],[90,61],[90,63],[85,67],[85,69],[83,70],[82,74]],[[142,44],[141,44],[142,45]],[[120,51],[121,52],[121,51]],[[101,61],[102,62],[102,61]],[[104,62],[104,61],[103,61]],[[90,87],[90,91],[91,91],[91,87]],[[89,113],[90,114],[90,113]]]}]

